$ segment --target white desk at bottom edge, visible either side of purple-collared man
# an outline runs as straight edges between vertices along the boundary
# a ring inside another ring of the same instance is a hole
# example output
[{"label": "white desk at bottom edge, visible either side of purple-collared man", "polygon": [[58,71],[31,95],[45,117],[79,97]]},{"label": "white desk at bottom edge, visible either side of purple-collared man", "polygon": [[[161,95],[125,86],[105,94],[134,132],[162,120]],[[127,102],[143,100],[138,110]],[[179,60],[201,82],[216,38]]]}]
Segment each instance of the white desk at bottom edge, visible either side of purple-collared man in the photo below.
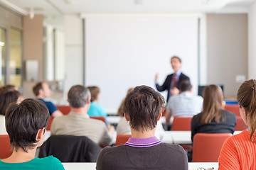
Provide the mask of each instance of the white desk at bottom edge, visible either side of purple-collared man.
[{"label": "white desk at bottom edge, visible either side of purple-collared man", "polygon": [[[171,161],[171,159],[170,159]],[[96,168],[95,162],[90,163],[62,163],[65,170],[92,170]],[[205,169],[218,169],[218,162],[189,162],[188,169],[189,170],[198,170],[198,168]]]}]

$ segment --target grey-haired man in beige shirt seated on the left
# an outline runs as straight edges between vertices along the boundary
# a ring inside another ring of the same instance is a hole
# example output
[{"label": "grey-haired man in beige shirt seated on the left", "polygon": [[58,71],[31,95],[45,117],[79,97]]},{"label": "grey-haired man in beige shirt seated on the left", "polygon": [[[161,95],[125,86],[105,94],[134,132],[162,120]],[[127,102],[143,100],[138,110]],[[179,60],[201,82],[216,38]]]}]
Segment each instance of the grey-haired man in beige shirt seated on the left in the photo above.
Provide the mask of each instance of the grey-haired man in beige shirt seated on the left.
[{"label": "grey-haired man in beige shirt seated on the left", "polygon": [[71,111],[53,119],[50,135],[86,136],[98,145],[109,145],[114,137],[114,127],[106,127],[101,120],[90,118],[90,91],[85,86],[72,86],[68,91]]}]

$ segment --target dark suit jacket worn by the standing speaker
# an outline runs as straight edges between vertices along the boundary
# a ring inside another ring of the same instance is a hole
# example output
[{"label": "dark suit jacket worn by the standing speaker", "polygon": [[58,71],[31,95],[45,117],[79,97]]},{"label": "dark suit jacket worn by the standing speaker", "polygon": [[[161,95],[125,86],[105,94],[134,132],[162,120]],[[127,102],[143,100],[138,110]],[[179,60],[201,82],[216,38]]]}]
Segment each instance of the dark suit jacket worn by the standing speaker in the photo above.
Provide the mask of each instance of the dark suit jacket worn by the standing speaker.
[{"label": "dark suit jacket worn by the standing speaker", "polygon": [[[158,91],[165,91],[167,90],[168,91],[168,94],[167,94],[167,98],[166,98],[166,101],[169,100],[169,96],[170,96],[170,89],[171,89],[171,80],[172,80],[172,77],[173,77],[174,74],[170,74],[166,77],[166,80],[164,81],[164,84],[159,86],[159,84],[156,84],[156,89]],[[183,80],[188,80],[189,81],[189,77],[187,77],[185,74],[181,73],[179,79],[178,79],[178,82],[177,82],[177,85],[176,85],[176,88],[179,89],[179,86],[181,84],[181,82]]]}]

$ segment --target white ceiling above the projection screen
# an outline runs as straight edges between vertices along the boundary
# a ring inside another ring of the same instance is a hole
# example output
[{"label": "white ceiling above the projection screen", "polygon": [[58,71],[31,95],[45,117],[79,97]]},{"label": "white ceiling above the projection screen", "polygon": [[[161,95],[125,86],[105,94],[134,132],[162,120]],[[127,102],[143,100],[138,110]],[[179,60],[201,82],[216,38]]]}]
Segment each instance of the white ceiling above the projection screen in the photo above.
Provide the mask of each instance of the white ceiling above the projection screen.
[{"label": "white ceiling above the projection screen", "polygon": [[[169,13],[169,12],[246,12],[256,0],[0,0],[9,1],[28,13],[64,15],[81,13]],[[68,5],[66,1],[70,1]]]}]

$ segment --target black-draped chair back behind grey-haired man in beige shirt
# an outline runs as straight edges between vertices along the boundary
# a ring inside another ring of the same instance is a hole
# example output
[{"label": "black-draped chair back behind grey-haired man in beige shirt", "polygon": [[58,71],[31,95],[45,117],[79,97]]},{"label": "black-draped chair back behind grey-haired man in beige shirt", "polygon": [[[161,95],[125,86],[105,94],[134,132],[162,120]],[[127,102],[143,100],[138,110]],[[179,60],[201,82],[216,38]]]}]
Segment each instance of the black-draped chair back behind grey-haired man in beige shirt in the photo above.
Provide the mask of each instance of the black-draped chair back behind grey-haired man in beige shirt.
[{"label": "black-draped chair back behind grey-haired man in beige shirt", "polygon": [[60,162],[96,162],[100,150],[85,136],[52,135],[43,142],[38,157],[53,155]]}]

